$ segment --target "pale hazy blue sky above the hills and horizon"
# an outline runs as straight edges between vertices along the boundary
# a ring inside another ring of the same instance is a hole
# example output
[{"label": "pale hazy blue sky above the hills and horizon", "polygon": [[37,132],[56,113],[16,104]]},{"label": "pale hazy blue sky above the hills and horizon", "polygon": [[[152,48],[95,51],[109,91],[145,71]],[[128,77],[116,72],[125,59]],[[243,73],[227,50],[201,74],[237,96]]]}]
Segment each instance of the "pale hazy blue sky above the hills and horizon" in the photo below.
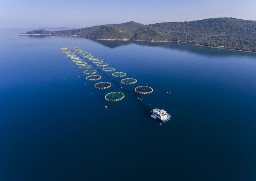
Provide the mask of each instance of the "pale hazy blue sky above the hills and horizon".
[{"label": "pale hazy blue sky above the hills and horizon", "polygon": [[217,17],[256,20],[256,0],[0,0],[0,28],[82,28]]}]

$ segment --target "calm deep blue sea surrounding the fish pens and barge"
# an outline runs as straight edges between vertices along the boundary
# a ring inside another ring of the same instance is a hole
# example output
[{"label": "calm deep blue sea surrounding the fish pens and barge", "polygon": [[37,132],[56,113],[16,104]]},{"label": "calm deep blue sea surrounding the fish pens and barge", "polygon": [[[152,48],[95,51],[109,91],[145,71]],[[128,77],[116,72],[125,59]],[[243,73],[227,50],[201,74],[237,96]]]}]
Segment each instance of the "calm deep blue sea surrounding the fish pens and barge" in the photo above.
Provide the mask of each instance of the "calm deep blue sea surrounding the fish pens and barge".
[{"label": "calm deep blue sea surrounding the fish pens and barge", "polygon": [[[24,31],[0,30],[0,180],[256,180],[256,54]],[[126,89],[147,83],[172,119],[105,101],[122,90],[96,90],[108,79],[86,81],[57,49],[72,46],[135,75]]]}]

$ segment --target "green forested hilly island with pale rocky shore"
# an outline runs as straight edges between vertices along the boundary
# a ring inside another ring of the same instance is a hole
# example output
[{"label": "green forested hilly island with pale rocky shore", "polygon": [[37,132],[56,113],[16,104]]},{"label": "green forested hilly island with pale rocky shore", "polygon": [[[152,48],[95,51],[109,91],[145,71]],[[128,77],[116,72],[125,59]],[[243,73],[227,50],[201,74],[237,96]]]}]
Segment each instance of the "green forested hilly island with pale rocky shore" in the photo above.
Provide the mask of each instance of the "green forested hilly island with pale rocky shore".
[{"label": "green forested hilly island with pale rocky shore", "polygon": [[18,35],[70,35],[101,40],[179,41],[256,52],[256,21],[209,18],[143,25],[136,22],[63,31],[34,30]]}]

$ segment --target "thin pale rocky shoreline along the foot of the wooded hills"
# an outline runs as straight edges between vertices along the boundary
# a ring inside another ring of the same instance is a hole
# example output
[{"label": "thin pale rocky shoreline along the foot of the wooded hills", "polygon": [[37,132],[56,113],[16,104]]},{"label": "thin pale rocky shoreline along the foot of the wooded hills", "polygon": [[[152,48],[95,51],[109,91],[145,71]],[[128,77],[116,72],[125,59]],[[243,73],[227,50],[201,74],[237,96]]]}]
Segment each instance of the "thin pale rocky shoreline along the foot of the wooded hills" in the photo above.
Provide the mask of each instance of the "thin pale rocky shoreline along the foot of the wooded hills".
[{"label": "thin pale rocky shoreline along the foot of the wooded hills", "polygon": [[[34,36],[51,35],[51,36],[75,36],[75,37],[81,37],[81,36],[70,35],[70,34],[65,34],[65,35],[52,35],[52,34],[17,34],[17,35],[18,35],[18,36],[20,36],[20,35],[34,35]],[[86,37],[81,37],[81,38],[86,38]],[[119,40],[119,41],[148,41],[148,42],[179,42],[179,43],[186,43],[186,44],[190,44],[190,45],[198,45],[198,46],[209,47],[209,48],[218,48],[218,49],[233,50],[233,51],[247,52],[247,53],[254,53],[254,54],[256,53],[256,52],[252,52],[252,51],[236,50],[236,49],[222,48],[222,47],[210,47],[210,46],[205,46],[205,45],[201,45],[201,44],[194,44],[194,43],[190,43],[190,42],[170,41],[170,40],[130,40],[130,39],[96,39],[96,38],[87,38],[87,39],[91,39],[91,40],[108,40],[108,41]]]}]

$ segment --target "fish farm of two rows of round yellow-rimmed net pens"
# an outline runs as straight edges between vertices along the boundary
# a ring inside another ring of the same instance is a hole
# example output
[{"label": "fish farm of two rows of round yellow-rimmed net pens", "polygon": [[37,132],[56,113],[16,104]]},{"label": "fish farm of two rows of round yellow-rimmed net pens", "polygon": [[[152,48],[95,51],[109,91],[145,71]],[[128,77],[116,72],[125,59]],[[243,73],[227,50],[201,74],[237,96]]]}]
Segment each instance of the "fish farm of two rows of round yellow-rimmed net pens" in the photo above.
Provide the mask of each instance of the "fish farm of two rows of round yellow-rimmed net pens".
[{"label": "fish farm of two rows of round yellow-rimmed net pens", "polygon": [[[128,89],[122,87],[120,84],[121,83],[122,84],[127,84],[127,85],[128,84],[134,84],[134,83],[137,83],[137,79],[135,79],[135,78],[125,78],[125,79],[118,80],[118,81],[113,80],[111,77],[109,77],[107,72],[113,72],[116,69],[114,69],[112,67],[107,67],[108,66],[107,63],[103,63],[102,60],[99,60],[99,58],[93,57],[91,54],[88,54],[86,51],[83,51],[79,47],[72,47],[72,49],[64,47],[64,48],[60,48],[60,50],[67,57],[69,57],[72,60],[72,62],[76,62],[76,65],[78,65],[80,69],[88,69],[88,70],[84,70],[84,74],[87,74],[87,75],[95,74],[98,71],[100,74],[102,74],[103,76],[106,76],[110,81],[112,81],[112,83],[115,84],[115,89],[121,89],[122,90],[122,92],[116,90],[114,92],[110,92],[110,93],[106,94],[105,95],[105,100],[107,100],[109,102],[120,101],[120,100],[124,99],[124,97],[125,97],[124,92],[127,92],[127,93],[131,94],[132,96],[134,96],[134,98],[139,100],[140,104],[144,107],[144,109],[148,110],[149,112],[151,111],[151,109],[147,105],[142,103],[142,98],[138,98],[139,94],[150,94],[150,93],[152,93],[153,89],[151,87],[139,86],[139,87],[136,87],[134,91],[128,90]],[[79,54],[82,54],[82,55],[79,55]],[[91,65],[87,65],[88,63],[90,63]],[[105,67],[105,68],[103,68],[102,71],[101,71],[100,69],[97,68],[97,66],[98,67]],[[104,73],[104,72],[106,72],[106,73]],[[112,76],[116,77],[116,79],[117,79],[117,78],[126,76],[126,73],[125,72],[114,72],[114,73],[112,73]],[[90,75],[90,76],[86,77],[87,81],[98,81],[100,79],[101,79],[101,76],[99,76],[99,75]],[[112,84],[110,82],[99,82],[99,83],[96,83],[94,85],[94,87],[96,89],[101,89],[101,90],[102,89],[108,89],[111,86],[112,86]],[[107,108],[107,106],[105,106],[105,107]]]}]

